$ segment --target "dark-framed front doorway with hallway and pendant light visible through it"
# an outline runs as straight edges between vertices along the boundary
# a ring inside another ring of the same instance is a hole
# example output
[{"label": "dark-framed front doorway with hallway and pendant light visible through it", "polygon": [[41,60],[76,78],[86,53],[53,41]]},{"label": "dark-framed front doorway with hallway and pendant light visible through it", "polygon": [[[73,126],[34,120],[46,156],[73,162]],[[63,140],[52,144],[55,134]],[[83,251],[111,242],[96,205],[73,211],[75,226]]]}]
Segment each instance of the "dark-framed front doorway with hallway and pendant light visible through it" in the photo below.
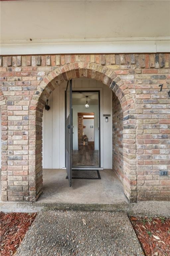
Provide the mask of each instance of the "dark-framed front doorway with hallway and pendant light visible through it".
[{"label": "dark-framed front doorway with hallway and pendant light visible through it", "polygon": [[72,167],[100,167],[100,91],[72,91]]}]

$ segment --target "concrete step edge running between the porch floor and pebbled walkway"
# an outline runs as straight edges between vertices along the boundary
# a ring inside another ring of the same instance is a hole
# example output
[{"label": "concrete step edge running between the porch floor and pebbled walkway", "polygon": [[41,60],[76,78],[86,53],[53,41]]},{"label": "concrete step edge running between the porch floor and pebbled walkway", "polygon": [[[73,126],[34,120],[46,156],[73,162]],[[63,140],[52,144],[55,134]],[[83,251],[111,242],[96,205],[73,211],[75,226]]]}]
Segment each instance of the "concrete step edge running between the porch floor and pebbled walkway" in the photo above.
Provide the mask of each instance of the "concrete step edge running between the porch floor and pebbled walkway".
[{"label": "concrete step edge running between the porch floor and pebbled walkway", "polygon": [[0,202],[2,212],[39,212],[41,210],[77,210],[77,211],[124,211],[134,216],[166,216],[170,217],[170,201],[144,201],[137,203],[114,204],[71,204],[37,202]]}]

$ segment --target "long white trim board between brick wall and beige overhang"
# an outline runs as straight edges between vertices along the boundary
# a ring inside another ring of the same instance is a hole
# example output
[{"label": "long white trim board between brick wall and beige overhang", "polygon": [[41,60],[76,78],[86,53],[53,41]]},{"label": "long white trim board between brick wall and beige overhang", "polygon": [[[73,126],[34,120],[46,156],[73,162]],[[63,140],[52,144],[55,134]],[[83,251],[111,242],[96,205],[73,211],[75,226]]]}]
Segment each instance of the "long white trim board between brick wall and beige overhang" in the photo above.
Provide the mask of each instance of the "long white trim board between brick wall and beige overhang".
[{"label": "long white trim board between brick wall and beige overhang", "polygon": [[170,52],[170,37],[1,41],[1,55]]}]

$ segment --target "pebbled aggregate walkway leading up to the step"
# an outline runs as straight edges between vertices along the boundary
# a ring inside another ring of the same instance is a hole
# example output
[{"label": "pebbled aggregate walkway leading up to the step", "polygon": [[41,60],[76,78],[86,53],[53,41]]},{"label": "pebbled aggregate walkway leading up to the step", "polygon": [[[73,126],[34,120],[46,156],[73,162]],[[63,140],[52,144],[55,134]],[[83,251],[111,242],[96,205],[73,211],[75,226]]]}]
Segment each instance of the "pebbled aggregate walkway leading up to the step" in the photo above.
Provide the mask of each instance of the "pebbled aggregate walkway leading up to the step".
[{"label": "pebbled aggregate walkway leading up to the step", "polygon": [[126,213],[42,211],[37,215],[16,253],[16,256],[28,255],[144,254]]}]

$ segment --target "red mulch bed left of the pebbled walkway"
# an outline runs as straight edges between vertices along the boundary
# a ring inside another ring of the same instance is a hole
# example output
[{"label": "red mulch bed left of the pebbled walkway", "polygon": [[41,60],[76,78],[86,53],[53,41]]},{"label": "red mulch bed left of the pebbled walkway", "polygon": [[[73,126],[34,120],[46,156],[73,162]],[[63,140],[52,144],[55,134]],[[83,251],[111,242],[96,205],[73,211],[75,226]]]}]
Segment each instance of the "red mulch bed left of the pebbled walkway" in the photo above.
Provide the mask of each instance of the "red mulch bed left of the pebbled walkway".
[{"label": "red mulch bed left of the pebbled walkway", "polygon": [[37,213],[0,213],[0,242],[2,256],[11,256],[21,244]]}]

